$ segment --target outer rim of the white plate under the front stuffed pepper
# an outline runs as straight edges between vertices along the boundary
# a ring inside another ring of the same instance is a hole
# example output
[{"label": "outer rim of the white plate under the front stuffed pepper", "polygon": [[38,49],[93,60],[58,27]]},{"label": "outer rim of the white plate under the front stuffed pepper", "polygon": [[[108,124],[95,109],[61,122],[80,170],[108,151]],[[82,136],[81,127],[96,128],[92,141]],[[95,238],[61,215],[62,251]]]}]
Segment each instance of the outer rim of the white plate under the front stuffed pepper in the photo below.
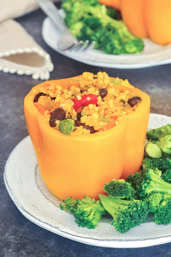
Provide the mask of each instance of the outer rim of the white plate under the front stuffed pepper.
[{"label": "outer rim of the white plate under the front stuffed pepper", "polygon": [[[166,115],[161,115],[161,114],[153,114],[150,113],[150,119],[154,118],[154,117],[158,117],[158,119],[160,119],[161,121],[165,120],[165,119],[171,119],[170,116],[166,116]],[[149,119],[149,120],[150,120]],[[137,248],[137,247],[146,247],[146,246],[153,246],[153,245],[158,245],[158,244],[163,244],[163,243],[167,243],[167,242],[171,242],[171,234],[169,236],[162,236],[162,237],[153,237],[153,238],[147,238],[147,239],[138,239],[138,240],[100,240],[100,239],[93,239],[93,238],[86,238],[83,236],[76,236],[70,233],[66,233],[62,230],[60,230],[57,227],[53,227],[51,225],[48,225],[44,222],[42,222],[41,220],[38,219],[38,217],[34,217],[32,214],[30,214],[29,212],[27,212],[27,210],[25,210],[24,208],[22,208],[19,205],[19,202],[17,202],[18,199],[15,199],[15,195],[13,194],[13,191],[8,183],[7,177],[6,177],[6,171],[9,165],[9,162],[11,162],[11,156],[15,153],[16,149],[19,147],[20,144],[22,144],[23,142],[25,142],[25,140],[30,140],[30,136],[25,137],[23,140],[21,140],[19,142],[19,144],[17,144],[17,146],[15,146],[15,148],[13,149],[13,151],[11,152],[11,154],[9,155],[7,162],[5,164],[5,170],[4,170],[4,182],[5,182],[5,186],[7,188],[7,191],[11,197],[11,199],[13,200],[13,202],[15,203],[15,205],[17,206],[17,208],[19,209],[19,211],[26,217],[28,218],[28,220],[32,221],[33,223],[35,223],[36,225],[45,228],[46,230],[49,230],[51,232],[54,232],[60,236],[69,238],[71,240],[75,240],[77,242],[81,242],[81,243],[85,243],[85,244],[89,244],[89,245],[93,245],[93,246],[102,246],[102,247],[112,247],[112,248]],[[31,140],[30,140],[31,142]],[[35,158],[35,156],[34,156]],[[136,242],[138,243],[138,245],[133,245],[133,243]]]}]

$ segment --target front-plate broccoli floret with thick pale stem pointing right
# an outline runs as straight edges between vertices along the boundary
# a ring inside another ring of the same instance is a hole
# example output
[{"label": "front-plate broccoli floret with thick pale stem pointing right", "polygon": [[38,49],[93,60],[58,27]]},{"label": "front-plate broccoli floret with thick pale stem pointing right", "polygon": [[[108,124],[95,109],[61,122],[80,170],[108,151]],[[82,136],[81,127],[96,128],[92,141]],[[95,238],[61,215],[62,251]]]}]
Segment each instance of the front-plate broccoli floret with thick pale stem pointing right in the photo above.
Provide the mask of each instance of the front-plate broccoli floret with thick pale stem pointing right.
[{"label": "front-plate broccoli floret with thick pale stem pointing right", "polygon": [[147,201],[154,192],[171,194],[171,184],[164,181],[161,175],[160,170],[151,168],[143,169],[141,174],[136,172],[134,175],[129,175],[128,181],[131,183],[132,179],[132,186],[136,190],[137,199]]}]

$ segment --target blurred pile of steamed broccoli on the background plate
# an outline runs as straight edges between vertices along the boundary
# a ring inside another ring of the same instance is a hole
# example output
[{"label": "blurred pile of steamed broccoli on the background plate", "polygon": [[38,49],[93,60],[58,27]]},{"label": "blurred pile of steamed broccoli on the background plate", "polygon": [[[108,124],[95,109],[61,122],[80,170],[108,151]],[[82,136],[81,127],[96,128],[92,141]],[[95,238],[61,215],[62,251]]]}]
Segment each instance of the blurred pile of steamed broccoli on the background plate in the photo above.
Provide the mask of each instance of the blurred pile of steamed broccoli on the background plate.
[{"label": "blurred pile of steamed broccoli on the background plate", "polygon": [[134,37],[123,21],[110,17],[107,7],[97,0],[64,0],[61,7],[70,32],[78,40],[95,41],[95,49],[115,55],[143,50],[143,40]]}]

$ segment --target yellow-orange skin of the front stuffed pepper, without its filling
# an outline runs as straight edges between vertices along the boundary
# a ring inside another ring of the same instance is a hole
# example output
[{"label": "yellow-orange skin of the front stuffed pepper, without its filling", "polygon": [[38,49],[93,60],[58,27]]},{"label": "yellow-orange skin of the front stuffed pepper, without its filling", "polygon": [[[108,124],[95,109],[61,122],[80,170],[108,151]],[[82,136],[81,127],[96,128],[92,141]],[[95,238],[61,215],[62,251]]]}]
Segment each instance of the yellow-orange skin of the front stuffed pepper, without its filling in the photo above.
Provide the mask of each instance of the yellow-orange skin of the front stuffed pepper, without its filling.
[{"label": "yellow-orange skin of the front stuffed pepper, without its filling", "polygon": [[[61,80],[61,85],[67,81]],[[82,199],[86,194],[99,199],[106,182],[139,171],[150,112],[146,93],[133,88],[142,102],[135,112],[120,117],[117,126],[95,134],[67,136],[51,128],[34,106],[38,87],[25,97],[25,117],[42,177],[55,196]]]}]

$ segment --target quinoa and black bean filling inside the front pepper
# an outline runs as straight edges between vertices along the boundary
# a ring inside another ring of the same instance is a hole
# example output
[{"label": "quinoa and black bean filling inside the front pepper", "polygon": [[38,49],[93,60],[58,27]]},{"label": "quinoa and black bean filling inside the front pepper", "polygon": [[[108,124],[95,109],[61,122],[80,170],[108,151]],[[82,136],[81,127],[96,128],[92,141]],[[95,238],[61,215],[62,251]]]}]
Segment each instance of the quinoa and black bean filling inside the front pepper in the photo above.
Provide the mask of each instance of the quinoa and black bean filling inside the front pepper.
[{"label": "quinoa and black bean filling inside the front pepper", "polygon": [[50,127],[69,134],[93,134],[113,128],[118,118],[134,112],[141,98],[127,79],[111,81],[105,72],[84,72],[71,87],[57,81],[40,85],[34,105]]}]

